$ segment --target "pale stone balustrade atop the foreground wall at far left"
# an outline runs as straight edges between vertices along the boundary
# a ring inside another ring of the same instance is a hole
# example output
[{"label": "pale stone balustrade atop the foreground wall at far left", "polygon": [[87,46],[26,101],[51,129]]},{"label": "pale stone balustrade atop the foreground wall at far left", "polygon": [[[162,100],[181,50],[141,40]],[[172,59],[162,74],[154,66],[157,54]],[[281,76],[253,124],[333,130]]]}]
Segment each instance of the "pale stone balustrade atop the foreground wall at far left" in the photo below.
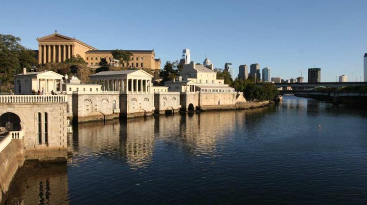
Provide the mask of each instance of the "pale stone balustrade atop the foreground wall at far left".
[{"label": "pale stone balustrade atop the foreground wall at far left", "polygon": [[14,102],[67,102],[65,95],[0,95],[0,103]]}]

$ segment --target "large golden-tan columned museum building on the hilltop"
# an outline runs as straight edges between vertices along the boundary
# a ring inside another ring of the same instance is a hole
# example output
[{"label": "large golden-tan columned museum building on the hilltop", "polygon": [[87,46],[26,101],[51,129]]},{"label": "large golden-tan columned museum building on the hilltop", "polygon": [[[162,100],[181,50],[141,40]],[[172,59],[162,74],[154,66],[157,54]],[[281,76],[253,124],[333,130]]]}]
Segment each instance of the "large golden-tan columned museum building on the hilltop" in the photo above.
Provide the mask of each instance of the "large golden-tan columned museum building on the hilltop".
[{"label": "large golden-tan columned museum building on the hilltop", "polygon": [[[58,33],[38,38],[38,63],[64,62],[71,56],[79,55],[90,67],[98,66],[98,62],[106,59],[112,62],[112,50],[98,50],[75,38],[70,38]],[[133,53],[129,62],[121,62],[122,67],[147,68],[151,70],[161,69],[161,60],[156,59],[153,50],[128,50]]]}]

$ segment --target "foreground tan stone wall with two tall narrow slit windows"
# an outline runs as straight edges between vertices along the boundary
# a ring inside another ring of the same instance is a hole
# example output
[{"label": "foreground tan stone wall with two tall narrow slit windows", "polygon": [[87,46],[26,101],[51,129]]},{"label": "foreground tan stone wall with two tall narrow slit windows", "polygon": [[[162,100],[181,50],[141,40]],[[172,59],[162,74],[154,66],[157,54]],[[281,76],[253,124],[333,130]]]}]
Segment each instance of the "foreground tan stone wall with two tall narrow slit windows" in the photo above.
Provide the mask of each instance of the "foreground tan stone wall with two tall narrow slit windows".
[{"label": "foreground tan stone wall with two tall narrow slit windows", "polygon": [[[25,160],[65,160],[67,149],[67,102],[1,103],[0,115],[11,112],[19,116],[24,133]],[[42,116],[42,143],[38,141],[38,113]],[[45,142],[45,113],[47,113],[47,143]]]}]

